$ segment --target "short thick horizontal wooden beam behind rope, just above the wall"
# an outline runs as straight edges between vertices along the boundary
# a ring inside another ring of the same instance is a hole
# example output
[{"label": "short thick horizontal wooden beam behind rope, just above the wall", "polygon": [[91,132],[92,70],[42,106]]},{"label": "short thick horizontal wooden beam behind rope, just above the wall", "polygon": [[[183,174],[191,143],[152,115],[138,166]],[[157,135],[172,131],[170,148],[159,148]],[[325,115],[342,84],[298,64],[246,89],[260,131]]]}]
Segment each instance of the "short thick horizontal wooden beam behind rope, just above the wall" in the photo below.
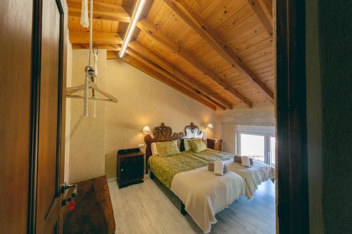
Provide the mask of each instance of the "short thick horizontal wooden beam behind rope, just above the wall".
[{"label": "short thick horizontal wooden beam behind rope, just above the wall", "polygon": [[[89,44],[89,32],[70,30],[70,42],[72,44]],[[96,44],[122,44],[122,39],[113,32],[94,32],[93,41]]]}]

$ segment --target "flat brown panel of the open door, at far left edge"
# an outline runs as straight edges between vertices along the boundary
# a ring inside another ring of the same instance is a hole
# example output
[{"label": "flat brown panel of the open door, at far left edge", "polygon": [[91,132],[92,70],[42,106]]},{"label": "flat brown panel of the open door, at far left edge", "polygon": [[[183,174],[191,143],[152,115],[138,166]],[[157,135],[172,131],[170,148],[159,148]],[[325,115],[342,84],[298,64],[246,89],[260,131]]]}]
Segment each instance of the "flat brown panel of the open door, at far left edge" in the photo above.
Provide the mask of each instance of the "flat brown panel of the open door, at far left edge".
[{"label": "flat brown panel of the open door, at far left edge", "polygon": [[32,11],[0,0],[0,233],[27,233]]}]

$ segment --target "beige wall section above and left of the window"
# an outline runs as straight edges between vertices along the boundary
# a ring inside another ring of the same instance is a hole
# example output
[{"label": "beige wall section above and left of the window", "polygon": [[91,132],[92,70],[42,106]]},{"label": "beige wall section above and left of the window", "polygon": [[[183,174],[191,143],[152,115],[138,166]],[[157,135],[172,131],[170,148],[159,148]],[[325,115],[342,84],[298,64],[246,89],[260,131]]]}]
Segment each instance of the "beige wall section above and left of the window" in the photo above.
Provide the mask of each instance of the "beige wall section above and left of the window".
[{"label": "beige wall section above and left of the window", "polygon": [[223,139],[223,150],[237,153],[237,125],[275,126],[274,105],[254,104],[253,108],[234,108],[216,112],[220,136]]}]

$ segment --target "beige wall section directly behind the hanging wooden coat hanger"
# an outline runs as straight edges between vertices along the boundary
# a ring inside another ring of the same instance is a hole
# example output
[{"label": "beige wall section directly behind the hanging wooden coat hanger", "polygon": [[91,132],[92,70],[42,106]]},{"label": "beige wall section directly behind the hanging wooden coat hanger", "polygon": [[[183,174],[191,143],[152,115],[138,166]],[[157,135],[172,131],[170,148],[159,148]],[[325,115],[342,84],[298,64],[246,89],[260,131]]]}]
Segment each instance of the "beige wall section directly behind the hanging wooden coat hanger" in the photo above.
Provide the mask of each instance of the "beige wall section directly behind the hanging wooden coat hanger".
[{"label": "beige wall section directly behind the hanging wooden coat hanger", "polygon": [[[84,84],[84,67],[88,63],[88,57],[88,50],[73,51],[72,86]],[[98,71],[96,84],[100,89],[105,89],[105,50],[99,50]],[[89,117],[84,117],[83,99],[71,100],[70,182],[84,181],[105,174],[106,102],[96,101],[95,118],[93,108],[93,101],[90,100]]]}]

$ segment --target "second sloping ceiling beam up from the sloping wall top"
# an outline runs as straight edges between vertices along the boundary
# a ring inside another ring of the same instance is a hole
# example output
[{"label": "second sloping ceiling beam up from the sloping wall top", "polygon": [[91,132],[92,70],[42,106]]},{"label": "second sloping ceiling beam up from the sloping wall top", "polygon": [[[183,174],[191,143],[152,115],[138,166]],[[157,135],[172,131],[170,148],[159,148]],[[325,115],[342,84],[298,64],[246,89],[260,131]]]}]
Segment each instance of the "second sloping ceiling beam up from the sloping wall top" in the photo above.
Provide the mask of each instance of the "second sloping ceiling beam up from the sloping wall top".
[{"label": "second sloping ceiling beam up from the sloping wall top", "polygon": [[[143,56],[142,54],[140,54],[137,51],[132,50],[131,48],[127,48],[126,53],[131,56],[134,59],[139,60],[139,62],[143,63],[144,65],[146,65],[147,67],[151,68],[152,70],[160,73],[163,75],[163,77],[166,77],[168,79],[170,79],[172,82],[177,83],[178,85],[182,86],[184,89],[188,89],[189,91],[191,91],[192,93],[196,94],[197,96],[200,96],[201,98],[204,98],[205,95],[201,95],[201,91],[198,91],[196,89],[194,89],[193,86],[190,86],[189,84],[187,84],[186,82],[183,82],[182,80],[178,79],[177,77],[175,77],[174,75],[170,74],[169,72],[167,72],[166,70],[163,70],[162,67],[159,67],[158,64],[153,63],[153,61],[149,60],[148,58],[146,58],[145,56]],[[213,102],[212,98],[205,98],[207,100],[211,100],[211,102],[216,105],[217,102]],[[225,108],[223,105],[219,105],[220,108]],[[225,108],[226,109],[226,108]]]}]

